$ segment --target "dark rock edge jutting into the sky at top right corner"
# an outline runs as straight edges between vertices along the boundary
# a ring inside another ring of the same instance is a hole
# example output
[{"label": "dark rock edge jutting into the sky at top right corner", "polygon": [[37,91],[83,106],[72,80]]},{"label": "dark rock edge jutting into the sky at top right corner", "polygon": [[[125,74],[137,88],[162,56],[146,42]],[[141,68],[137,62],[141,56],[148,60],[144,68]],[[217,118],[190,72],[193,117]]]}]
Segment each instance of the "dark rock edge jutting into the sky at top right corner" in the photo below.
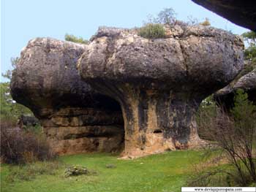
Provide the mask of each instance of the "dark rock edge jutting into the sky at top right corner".
[{"label": "dark rock edge jutting into the sky at top right corner", "polygon": [[255,1],[244,0],[192,0],[206,9],[216,12],[238,26],[256,31],[256,4]]}]

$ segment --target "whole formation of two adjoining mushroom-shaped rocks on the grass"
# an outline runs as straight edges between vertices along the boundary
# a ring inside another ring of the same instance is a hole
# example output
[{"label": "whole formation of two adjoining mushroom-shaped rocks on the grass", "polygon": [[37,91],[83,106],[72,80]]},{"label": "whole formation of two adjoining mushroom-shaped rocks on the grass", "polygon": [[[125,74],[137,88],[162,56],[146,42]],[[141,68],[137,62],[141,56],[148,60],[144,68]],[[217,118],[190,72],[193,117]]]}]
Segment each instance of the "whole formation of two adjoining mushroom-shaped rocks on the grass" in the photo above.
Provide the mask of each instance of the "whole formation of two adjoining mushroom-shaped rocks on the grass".
[{"label": "whole formation of two adjoining mushroom-shaped rocks on the grass", "polygon": [[243,42],[211,27],[165,29],[167,38],[145,39],[135,29],[99,28],[89,45],[33,39],[13,72],[12,97],[60,154],[124,142],[132,156],[197,147],[197,107],[241,70]]}]

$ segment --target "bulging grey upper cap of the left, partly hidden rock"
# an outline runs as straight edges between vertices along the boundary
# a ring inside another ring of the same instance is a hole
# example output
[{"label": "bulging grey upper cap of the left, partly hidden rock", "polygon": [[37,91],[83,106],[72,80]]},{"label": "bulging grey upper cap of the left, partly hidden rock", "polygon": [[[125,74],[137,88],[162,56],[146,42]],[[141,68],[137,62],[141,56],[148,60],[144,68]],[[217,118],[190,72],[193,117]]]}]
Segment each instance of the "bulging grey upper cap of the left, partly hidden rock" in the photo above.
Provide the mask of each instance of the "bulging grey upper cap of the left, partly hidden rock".
[{"label": "bulging grey upper cap of the left, partly hidden rock", "polygon": [[[40,108],[104,108],[104,102],[101,102],[104,96],[78,75],[76,64],[85,50],[86,45],[73,42],[31,39],[20,53],[20,61],[12,75],[13,99],[32,110],[36,106],[36,115],[43,115],[37,112]],[[113,107],[116,106],[113,104]]]}]

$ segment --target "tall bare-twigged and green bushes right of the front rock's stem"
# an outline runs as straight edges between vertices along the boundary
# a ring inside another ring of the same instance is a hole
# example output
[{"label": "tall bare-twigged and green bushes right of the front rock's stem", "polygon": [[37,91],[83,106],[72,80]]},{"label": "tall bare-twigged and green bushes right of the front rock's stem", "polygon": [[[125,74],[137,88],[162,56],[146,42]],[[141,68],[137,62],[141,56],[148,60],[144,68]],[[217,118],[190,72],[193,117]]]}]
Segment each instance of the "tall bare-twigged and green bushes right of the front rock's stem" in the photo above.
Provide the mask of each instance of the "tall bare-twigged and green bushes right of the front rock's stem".
[{"label": "tall bare-twigged and green bushes right of the front rock's stem", "polygon": [[[224,152],[225,161],[229,163],[230,169],[217,172],[212,169],[206,172],[203,170],[200,175],[203,174],[205,180],[192,180],[192,185],[201,185],[202,182],[211,183],[217,178],[226,180],[230,185],[249,186],[256,183],[256,159],[252,153],[256,139],[256,106],[247,99],[247,94],[242,90],[237,91],[234,103],[230,114],[218,107],[209,109],[205,104],[200,108],[203,116],[200,115],[199,125],[206,126],[205,137],[213,140]],[[214,104],[210,102],[210,106],[212,105]],[[218,166],[218,164],[214,165]]]}]

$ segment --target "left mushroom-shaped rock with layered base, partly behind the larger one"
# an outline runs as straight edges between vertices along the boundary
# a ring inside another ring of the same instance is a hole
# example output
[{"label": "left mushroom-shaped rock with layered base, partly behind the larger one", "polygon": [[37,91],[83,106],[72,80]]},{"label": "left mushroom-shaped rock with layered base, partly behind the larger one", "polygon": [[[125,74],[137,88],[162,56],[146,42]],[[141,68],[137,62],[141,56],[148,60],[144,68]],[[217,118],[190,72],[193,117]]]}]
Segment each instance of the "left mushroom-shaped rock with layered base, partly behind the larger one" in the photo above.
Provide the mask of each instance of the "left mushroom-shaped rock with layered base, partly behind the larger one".
[{"label": "left mushroom-shaped rock with layered base, partly behind the larger one", "polygon": [[80,80],[76,63],[86,45],[32,39],[12,74],[13,99],[29,107],[57,153],[120,150],[119,104]]}]

